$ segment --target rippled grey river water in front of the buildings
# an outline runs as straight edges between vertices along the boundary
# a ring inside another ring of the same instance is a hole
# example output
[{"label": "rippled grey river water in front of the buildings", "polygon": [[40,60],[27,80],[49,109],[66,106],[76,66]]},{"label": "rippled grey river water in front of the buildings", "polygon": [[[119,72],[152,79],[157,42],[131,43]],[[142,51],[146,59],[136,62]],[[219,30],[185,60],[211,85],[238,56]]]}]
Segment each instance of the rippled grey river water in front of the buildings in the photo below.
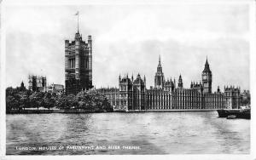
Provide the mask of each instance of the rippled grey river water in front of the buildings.
[{"label": "rippled grey river water in front of the buildings", "polygon": [[[7,115],[6,132],[8,155],[250,152],[250,120],[220,118],[217,111]],[[19,149],[26,146],[36,150]],[[39,146],[64,149],[38,150]]]}]

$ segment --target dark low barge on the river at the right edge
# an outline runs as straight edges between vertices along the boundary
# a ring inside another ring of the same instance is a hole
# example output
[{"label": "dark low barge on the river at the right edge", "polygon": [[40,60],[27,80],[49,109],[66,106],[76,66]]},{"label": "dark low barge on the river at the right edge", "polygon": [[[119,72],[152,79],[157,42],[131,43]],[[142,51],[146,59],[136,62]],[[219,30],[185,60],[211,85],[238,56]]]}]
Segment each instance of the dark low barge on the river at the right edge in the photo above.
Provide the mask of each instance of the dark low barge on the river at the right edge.
[{"label": "dark low barge on the river at the right edge", "polygon": [[217,110],[218,117],[228,117],[230,115],[236,116],[236,118],[251,119],[251,109],[222,109]]}]

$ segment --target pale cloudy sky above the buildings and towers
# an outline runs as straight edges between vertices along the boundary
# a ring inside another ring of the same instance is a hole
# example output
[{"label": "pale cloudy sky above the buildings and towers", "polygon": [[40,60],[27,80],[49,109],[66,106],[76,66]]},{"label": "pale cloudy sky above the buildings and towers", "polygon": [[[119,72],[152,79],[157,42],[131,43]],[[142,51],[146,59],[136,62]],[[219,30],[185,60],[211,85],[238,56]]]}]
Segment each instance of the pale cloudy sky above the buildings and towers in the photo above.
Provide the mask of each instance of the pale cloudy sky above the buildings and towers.
[{"label": "pale cloudy sky above the buildings and towers", "polygon": [[212,91],[249,89],[247,4],[58,5],[6,7],[6,84],[28,85],[28,75],[65,84],[66,39],[92,36],[93,85],[118,87],[119,74],[145,75],[147,88],[161,57],[166,78],[181,74],[184,88],[201,80],[206,60]]}]

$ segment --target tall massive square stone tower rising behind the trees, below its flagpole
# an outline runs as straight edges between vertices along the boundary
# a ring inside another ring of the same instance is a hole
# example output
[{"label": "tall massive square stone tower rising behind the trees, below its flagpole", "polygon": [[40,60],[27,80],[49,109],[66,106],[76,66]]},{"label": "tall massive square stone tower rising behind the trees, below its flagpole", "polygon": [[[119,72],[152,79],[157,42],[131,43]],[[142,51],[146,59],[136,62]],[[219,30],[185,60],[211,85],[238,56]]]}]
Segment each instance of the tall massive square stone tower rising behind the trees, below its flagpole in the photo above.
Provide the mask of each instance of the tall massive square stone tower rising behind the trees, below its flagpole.
[{"label": "tall massive square stone tower rising behind the trees, below its flagpole", "polygon": [[65,40],[65,87],[66,94],[78,94],[92,85],[92,40],[85,43],[79,31],[74,40]]}]

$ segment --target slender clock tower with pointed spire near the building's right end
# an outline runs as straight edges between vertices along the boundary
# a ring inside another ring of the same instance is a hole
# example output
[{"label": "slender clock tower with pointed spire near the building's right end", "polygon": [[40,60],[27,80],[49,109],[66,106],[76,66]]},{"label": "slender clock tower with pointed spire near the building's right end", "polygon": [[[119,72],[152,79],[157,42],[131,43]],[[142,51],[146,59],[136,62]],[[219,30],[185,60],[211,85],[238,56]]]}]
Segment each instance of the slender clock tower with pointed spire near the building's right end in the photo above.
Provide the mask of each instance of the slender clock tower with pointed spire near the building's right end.
[{"label": "slender clock tower with pointed spire near the building's right end", "polygon": [[204,71],[201,73],[202,85],[203,85],[203,93],[211,94],[212,93],[212,71],[210,70],[210,66],[208,64],[208,60],[205,64]]}]

